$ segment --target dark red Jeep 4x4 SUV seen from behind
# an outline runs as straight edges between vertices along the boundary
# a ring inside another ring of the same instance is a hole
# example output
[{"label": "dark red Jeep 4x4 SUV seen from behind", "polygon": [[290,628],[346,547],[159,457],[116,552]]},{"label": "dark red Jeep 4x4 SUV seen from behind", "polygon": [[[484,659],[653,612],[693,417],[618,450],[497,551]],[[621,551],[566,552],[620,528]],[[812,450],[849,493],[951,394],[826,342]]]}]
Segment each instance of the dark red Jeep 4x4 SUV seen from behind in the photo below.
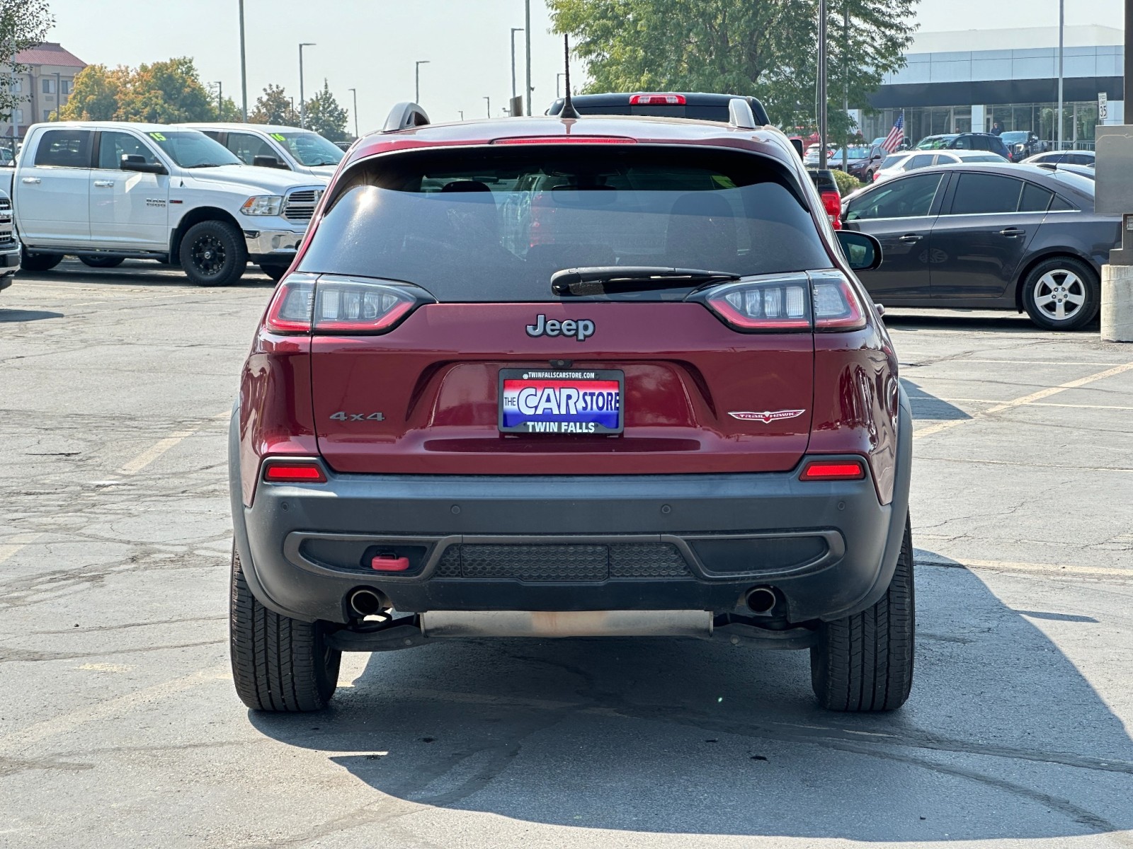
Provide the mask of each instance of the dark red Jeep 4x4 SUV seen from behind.
[{"label": "dark red Jeep 4x4 SUV seen from behind", "polygon": [[911,417],[787,138],[401,104],[280,281],[231,428],[249,707],[452,636],[810,649],[819,702],[909,696]]}]

